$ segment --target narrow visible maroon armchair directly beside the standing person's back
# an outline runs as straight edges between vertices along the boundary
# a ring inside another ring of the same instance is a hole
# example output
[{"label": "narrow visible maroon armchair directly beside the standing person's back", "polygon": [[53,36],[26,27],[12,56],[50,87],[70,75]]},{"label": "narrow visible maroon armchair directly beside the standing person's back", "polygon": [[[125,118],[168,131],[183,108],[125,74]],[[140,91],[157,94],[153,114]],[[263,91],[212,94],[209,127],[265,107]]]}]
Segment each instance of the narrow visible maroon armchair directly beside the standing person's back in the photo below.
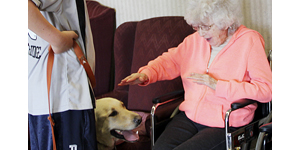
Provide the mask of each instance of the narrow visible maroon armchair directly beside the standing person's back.
[{"label": "narrow visible maroon armchair directly beside the standing person's back", "polygon": [[95,96],[113,89],[113,41],[116,12],[97,1],[86,1],[95,47]]}]

